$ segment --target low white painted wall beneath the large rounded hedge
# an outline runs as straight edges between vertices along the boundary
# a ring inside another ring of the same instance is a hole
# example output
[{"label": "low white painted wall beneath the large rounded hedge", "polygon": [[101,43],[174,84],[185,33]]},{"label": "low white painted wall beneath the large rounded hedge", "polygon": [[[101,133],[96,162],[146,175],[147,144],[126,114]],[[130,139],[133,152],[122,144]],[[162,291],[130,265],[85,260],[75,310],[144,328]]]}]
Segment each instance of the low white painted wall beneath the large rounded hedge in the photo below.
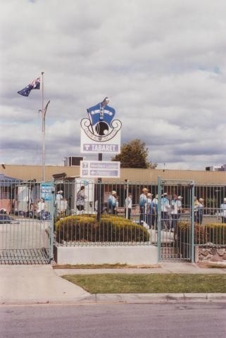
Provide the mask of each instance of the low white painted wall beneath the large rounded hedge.
[{"label": "low white painted wall beneath the large rounded hedge", "polygon": [[54,246],[57,264],[129,264],[158,263],[157,246]]}]

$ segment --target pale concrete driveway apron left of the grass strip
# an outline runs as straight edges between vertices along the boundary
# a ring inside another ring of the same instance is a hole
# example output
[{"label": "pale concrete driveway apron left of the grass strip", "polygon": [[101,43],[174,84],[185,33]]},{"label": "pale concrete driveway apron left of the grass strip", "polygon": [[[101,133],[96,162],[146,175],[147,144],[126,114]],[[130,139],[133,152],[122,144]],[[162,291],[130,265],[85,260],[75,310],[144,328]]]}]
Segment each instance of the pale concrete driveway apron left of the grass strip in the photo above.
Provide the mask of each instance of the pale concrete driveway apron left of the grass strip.
[{"label": "pale concrete driveway apron left of the grass strip", "polygon": [[51,265],[0,265],[0,304],[67,303],[85,295]]}]

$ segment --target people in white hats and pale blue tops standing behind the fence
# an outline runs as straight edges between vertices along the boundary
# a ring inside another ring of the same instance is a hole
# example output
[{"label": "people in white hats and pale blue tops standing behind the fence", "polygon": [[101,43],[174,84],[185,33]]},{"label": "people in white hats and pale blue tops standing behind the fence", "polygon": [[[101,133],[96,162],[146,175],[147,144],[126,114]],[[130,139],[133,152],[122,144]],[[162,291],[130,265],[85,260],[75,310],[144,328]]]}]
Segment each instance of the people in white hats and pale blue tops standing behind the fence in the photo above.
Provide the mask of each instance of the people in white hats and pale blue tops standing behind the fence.
[{"label": "people in white hats and pale blue tops standing behind the fence", "polygon": [[[61,194],[62,192],[58,192]],[[76,206],[78,211],[84,211],[84,204],[87,196],[85,195],[84,186],[80,187],[77,192]],[[177,223],[182,214],[182,196],[174,194],[172,198],[169,198],[168,193],[164,192],[161,195],[161,229],[162,230],[177,230]],[[132,193],[128,192],[125,199],[125,216],[130,220],[132,212]],[[113,190],[108,196],[107,213],[117,215],[118,209],[118,196],[117,192]],[[200,197],[194,197],[194,222],[202,224],[203,222],[203,209],[204,200]],[[38,206],[38,212],[42,215],[44,211],[44,201],[40,201]],[[149,227],[157,228],[158,223],[158,194],[153,197],[153,194],[149,192],[149,189],[143,188],[142,194],[139,196],[139,224],[144,225],[146,223]],[[226,223],[226,198],[223,200],[223,204],[220,205],[220,215],[222,223]]]}]

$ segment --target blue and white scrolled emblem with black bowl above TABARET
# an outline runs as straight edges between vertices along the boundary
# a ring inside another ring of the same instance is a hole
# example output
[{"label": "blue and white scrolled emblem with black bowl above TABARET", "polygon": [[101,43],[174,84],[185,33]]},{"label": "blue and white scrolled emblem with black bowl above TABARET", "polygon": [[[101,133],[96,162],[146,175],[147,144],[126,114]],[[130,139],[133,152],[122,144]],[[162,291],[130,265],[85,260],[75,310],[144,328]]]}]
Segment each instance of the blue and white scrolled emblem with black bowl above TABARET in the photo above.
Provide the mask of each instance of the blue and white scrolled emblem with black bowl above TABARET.
[{"label": "blue and white scrolled emblem with black bowl above TABARET", "polygon": [[81,127],[89,139],[106,142],[113,139],[122,127],[120,120],[113,120],[115,109],[108,106],[106,97],[100,104],[87,109],[89,118],[81,120]]}]

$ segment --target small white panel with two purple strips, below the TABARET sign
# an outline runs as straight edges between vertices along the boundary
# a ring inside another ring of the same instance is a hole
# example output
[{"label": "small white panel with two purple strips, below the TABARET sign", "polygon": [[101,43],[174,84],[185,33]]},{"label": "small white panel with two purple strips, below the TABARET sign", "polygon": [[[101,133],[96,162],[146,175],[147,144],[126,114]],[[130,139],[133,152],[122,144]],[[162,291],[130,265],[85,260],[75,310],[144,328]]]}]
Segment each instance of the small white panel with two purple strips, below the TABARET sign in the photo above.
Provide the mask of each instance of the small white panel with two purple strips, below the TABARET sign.
[{"label": "small white panel with two purple strips, below the TABARET sign", "polygon": [[81,177],[115,177],[120,178],[120,162],[115,161],[81,161]]}]

